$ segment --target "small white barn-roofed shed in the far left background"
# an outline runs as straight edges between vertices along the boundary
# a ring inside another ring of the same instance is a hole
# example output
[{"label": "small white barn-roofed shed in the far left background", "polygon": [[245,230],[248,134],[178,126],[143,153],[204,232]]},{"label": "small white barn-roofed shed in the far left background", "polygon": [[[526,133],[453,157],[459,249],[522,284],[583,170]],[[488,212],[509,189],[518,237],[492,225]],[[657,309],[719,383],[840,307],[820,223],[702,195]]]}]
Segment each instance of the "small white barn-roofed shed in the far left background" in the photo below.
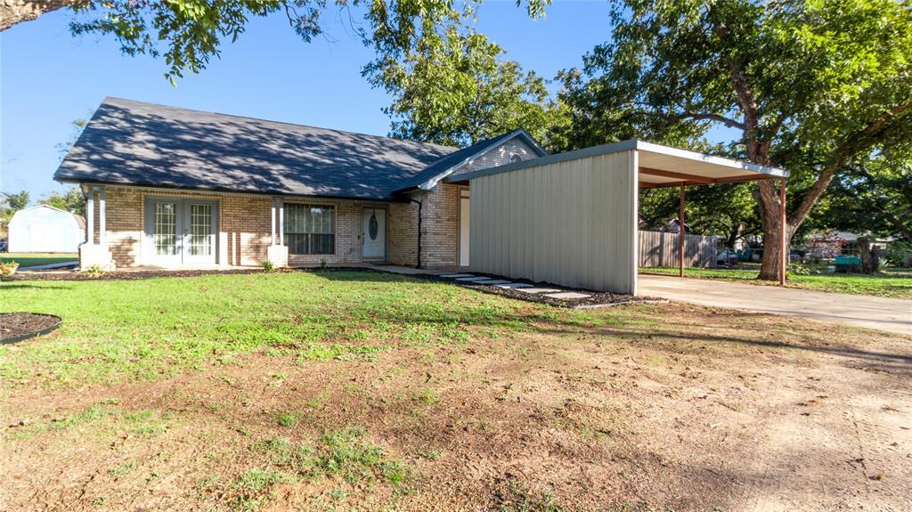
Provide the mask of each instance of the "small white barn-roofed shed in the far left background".
[{"label": "small white barn-roofed shed in the far left background", "polygon": [[85,240],[81,215],[47,204],[18,210],[9,221],[10,252],[76,252]]}]

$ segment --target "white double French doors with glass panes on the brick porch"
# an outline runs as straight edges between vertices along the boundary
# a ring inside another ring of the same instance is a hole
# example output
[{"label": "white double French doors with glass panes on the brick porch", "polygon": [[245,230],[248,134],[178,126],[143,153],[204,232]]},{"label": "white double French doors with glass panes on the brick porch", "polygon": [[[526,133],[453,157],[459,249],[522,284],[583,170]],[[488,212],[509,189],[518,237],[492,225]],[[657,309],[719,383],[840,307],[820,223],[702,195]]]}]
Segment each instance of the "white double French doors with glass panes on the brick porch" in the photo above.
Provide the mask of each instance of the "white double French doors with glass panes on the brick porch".
[{"label": "white double French doors with glass panes on the brick porch", "polygon": [[213,200],[147,198],[148,261],[164,266],[215,263],[217,212]]}]

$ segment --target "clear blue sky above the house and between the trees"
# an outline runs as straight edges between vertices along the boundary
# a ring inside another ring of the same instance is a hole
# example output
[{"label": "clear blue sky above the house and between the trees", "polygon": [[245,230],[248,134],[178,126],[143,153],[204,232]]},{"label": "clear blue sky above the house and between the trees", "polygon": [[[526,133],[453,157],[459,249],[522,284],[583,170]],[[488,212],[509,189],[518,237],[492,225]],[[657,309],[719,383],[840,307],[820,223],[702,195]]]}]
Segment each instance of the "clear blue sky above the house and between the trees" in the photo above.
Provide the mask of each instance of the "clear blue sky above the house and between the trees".
[{"label": "clear blue sky above the house and between the trees", "polygon": [[[561,2],[531,20],[513,1],[486,1],[480,30],[509,58],[544,77],[578,66],[608,36],[605,1]],[[4,191],[27,189],[32,200],[52,189],[57,145],[73,133],[102,98],[126,97],[385,135],[389,97],[360,76],[373,52],[332,15],[327,38],[302,42],[283,15],[255,18],[222,58],[171,87],[163,60],[121,56],[109,37],[69,34],[68,11],[51,13],[0,33],[0,166]]]}]

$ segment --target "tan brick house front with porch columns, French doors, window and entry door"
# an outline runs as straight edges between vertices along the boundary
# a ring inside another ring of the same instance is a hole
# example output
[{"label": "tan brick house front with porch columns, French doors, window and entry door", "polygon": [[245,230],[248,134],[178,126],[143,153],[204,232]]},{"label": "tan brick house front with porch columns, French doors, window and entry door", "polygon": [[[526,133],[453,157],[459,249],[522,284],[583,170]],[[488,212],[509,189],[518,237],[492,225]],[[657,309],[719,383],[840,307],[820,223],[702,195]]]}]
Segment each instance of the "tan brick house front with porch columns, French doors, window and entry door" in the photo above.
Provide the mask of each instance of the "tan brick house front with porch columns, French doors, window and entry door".
[{"label": "tan brick house front with porch columns, French doors, window and entry door", "polygon": [[[79,248],[82,269],[224,270],[259,267],[264,261],[276,268],[419,266],[416,201],[96,184],[84,184],[83,191],[88,225],[86,241]],[[451,203],[443,204],[444,200]],[[455,267],[456,194],[430,193],[421,201],[425,214],[422,266]],[[441,224],[446,232],[440,231]]]}]

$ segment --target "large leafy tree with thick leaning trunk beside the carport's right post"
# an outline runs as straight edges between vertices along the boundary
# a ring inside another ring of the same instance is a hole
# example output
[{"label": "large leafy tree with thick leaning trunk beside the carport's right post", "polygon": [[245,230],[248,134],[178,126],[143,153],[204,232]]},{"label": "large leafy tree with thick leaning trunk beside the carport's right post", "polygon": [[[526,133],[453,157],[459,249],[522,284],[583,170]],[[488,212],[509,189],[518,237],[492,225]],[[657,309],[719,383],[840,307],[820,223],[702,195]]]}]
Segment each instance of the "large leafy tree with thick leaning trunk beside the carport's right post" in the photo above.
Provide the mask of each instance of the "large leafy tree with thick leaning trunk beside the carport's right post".
[{"label": "large leafy tree with thick leaning trunk beside the carport's right post", "polygon": [[[565,80],[571,133],[615,118],[665,140],[733,128],[731,156],[793,172],[790,238],[834,176],[912,137],[908,0],[616,0],[612,19],[612,42]],[[775,186],[753,195],[776,240]],[[762,278],[778,252],[767,244]]]}]

